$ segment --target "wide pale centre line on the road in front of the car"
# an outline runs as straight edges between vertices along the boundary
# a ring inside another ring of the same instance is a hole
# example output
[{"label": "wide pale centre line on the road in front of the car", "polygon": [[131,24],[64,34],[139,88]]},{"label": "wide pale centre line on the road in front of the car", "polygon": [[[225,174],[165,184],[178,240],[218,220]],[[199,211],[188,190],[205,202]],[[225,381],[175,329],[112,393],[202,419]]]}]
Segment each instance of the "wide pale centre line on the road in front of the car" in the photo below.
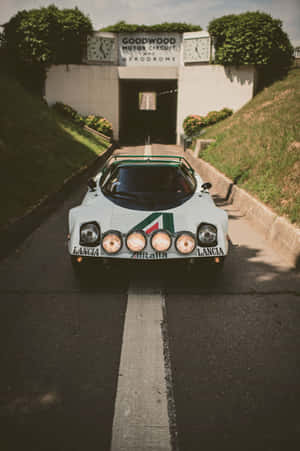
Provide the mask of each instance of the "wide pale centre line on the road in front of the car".
[{"label": "wide pale centre line on the road in front of the car", "polygon": [[171,451],[161,293],[128,293],[111,451]]}]

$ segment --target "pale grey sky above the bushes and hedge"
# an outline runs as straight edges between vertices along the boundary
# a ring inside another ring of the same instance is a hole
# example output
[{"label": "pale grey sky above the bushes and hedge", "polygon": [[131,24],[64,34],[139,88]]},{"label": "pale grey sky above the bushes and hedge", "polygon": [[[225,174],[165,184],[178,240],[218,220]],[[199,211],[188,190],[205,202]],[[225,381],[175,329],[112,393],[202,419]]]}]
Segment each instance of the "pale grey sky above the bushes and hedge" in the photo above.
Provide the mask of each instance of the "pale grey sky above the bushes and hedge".
[{"label": "pale grey sky above the bushes and hedge", "polygon": [[281,19],[292,44],[300,45],[300,0],[0,0],[0,24],[20,10],[53,3],[58,8],[77,6],[95,30],[120,20],[147,25],[187,22],[206,30],[212,19],[225,14],[262,11]]}]

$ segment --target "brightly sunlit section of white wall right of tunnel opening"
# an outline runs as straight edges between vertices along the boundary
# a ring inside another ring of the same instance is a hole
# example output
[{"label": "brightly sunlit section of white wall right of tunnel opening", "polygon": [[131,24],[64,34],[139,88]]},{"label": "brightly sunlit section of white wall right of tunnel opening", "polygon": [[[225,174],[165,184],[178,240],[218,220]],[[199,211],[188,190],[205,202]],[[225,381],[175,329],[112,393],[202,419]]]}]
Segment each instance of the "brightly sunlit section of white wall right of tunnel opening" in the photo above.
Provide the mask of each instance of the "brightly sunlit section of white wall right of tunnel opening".
[{"label": "brightly sunlit section of white wall right of tunnel opening", "polygon": [[182,123],[189,114],[206,115],[224,107],[240,109],[252,99],[255,68],[224,67],[204,64],[179,69],[177,103],[177,141],[183,133]]}]

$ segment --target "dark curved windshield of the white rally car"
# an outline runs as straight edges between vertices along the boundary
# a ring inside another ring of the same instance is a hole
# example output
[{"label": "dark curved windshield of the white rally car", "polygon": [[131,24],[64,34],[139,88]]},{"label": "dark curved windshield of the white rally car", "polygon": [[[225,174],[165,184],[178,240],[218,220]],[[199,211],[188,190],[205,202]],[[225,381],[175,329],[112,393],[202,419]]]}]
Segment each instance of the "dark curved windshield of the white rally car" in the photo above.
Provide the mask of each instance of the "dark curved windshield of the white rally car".
[{"label": "dark curved windshield of the white rally car", "polygon": [[177,166],[121,166],[104,185],[106,193],[165,193],[188,195],[194,191],[193,177]]}]

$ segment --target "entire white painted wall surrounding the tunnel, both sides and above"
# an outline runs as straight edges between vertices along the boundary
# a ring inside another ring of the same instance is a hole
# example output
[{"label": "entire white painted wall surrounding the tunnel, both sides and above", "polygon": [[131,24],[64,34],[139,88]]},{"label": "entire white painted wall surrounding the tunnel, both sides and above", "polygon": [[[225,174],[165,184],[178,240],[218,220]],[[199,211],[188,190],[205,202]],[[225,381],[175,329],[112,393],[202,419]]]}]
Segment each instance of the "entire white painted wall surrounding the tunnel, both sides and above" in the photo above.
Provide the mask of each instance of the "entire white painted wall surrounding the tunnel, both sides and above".
[{"label": "entire white painted wall surrounding the tunnel, both sides and above", "polygon": [[47,74],[45,97],[49,104],[64,102],[79,113],[106,117],[119,138],[119,79],[175,79],[178,77],[177,140],[189,114],[206,115],[224,107],[234,111],[253,97],[253,66],[220,65],[183,67],[132,67],[101,65],[52,66]]}]

